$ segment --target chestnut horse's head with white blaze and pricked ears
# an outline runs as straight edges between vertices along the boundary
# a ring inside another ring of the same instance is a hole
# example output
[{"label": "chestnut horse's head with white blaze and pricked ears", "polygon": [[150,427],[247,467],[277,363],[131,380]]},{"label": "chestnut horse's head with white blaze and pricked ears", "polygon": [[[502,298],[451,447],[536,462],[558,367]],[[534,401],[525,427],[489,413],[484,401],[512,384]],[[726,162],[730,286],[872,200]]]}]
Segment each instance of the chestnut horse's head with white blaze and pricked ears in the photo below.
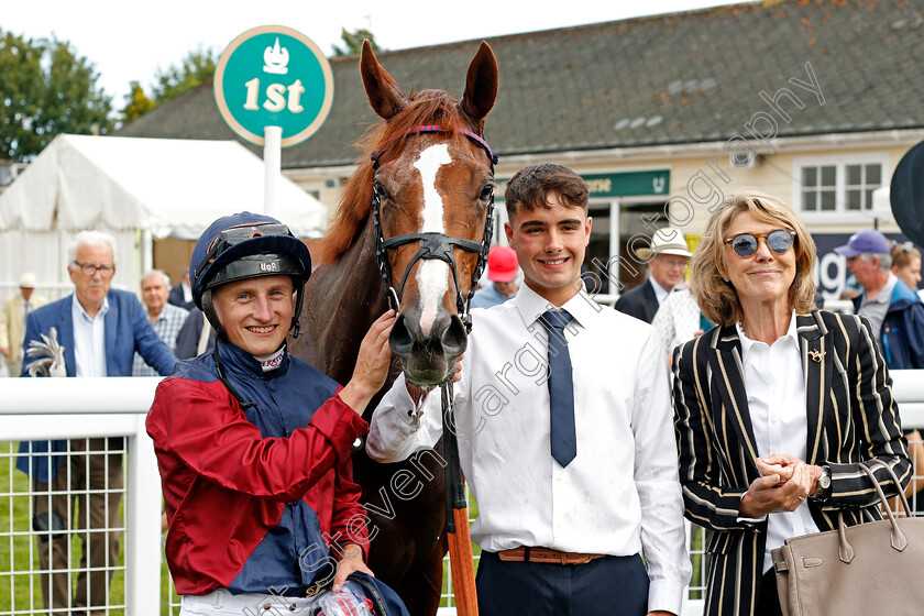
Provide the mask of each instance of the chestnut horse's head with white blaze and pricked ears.
[{"label": "chestnut horse's head with white blaze and pricked ears", "polygon": [[406,96],[369,43],[361,70],[385,120],[372,156],[372,201],[380,268],[398,309],[389,343],[409,381],[433,385],[465,351],[462,318],[491,243],[495,158],[481,133],[497,95],[497,62],[482,43],[460,101],[440,90]]}]

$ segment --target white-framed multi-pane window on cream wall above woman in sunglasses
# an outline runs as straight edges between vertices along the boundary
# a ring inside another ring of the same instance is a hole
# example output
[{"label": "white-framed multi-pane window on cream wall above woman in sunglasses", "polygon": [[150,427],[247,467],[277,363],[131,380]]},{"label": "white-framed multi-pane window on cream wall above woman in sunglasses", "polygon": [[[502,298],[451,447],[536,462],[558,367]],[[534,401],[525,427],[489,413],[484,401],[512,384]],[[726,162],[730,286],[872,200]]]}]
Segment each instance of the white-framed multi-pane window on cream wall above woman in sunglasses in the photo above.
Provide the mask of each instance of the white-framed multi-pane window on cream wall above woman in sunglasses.
[{"label": "white-framed multi-pane window on cream wall above woman in sunglasses", "polygon": [[800,205],[804,212],[864,212],[872,191],[882,186],[883,162],[848,161],[799,165]]}]

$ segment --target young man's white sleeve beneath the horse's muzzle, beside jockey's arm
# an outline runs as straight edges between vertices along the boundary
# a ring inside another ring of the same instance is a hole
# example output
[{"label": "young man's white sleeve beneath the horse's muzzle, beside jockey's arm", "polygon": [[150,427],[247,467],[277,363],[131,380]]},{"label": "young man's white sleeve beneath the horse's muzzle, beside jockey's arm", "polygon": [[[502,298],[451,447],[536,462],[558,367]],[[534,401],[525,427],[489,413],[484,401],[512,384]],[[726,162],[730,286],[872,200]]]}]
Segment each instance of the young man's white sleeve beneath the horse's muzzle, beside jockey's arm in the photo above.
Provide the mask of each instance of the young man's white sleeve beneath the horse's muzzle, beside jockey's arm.
[{"label": "young man's white sleeve beneath the horse's muzzle, beside jockey's arm", "polygon": [[398,462],[421,449],[432,449],[440,436],[439,389],[433,389],[419,405],[415,405],[402,374],[375,407],[370,421],[366,453],[377,462]]}]

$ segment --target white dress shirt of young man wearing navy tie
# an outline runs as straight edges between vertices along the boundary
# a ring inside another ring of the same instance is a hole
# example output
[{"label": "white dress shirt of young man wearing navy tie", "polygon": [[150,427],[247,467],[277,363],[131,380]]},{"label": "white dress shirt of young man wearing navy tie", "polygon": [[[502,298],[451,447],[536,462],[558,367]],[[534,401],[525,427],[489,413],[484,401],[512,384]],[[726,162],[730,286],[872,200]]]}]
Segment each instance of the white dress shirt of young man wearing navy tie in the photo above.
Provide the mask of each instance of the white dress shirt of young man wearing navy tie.
[{"label": "white dress shirt of young man wearing navy tie", "polygon": [[[512,300],[472,314],[454,385],[462,470],[479,504],[472,539],[495,552],[644,550],[649,609],[679,614],[691,565],[660,338],[583,292],[562,307],[574,318],[565,338],[578,457],[561,468],[549,442],[548,334],[537,322],[549,308],[524,286]],[[400,376],[373,415],[370,455],[392,462],[433,447],[440,415],[439,392],[415,409]]]}]

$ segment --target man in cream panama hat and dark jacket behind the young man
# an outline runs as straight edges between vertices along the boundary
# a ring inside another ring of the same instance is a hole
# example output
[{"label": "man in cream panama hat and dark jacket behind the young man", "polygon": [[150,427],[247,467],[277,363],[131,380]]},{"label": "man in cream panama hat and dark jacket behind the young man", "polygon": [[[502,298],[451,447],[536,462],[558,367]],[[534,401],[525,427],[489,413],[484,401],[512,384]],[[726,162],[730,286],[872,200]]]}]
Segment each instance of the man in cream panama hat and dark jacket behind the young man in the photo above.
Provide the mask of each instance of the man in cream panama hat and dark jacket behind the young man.
[{"label": "man in cream panama hat and dark jacket behind the young man", "polygon": [[683,282],[686,264],[693,253],[686,248],[683,234],[676,229],[659,229],[651,238],[651,248],[638,249],[636,254],[649,258],[648,278],[627,290],[616,301],[616,309],[650,323],[658,308],[674,287]]}]

